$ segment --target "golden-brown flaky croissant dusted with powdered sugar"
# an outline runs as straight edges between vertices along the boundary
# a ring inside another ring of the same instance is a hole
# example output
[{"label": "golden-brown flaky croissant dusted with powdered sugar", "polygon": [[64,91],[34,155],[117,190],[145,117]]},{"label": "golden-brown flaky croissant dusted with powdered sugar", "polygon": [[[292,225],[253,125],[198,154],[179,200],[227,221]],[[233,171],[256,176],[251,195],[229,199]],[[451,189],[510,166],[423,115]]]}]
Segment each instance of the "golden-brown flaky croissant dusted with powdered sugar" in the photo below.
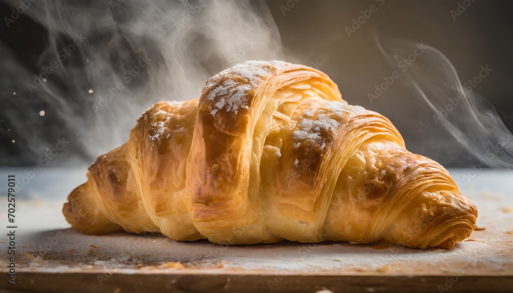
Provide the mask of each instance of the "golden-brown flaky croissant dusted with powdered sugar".
[{"label": "golden-brown flaky croissant dusted with powdered sugar", "polygon": [[87,178],[63,213],[94,235],[448,249],[478,215],[388,119],[348,105],[325,73],[282,61],[236,65],[199,99],[154,104]]}]

